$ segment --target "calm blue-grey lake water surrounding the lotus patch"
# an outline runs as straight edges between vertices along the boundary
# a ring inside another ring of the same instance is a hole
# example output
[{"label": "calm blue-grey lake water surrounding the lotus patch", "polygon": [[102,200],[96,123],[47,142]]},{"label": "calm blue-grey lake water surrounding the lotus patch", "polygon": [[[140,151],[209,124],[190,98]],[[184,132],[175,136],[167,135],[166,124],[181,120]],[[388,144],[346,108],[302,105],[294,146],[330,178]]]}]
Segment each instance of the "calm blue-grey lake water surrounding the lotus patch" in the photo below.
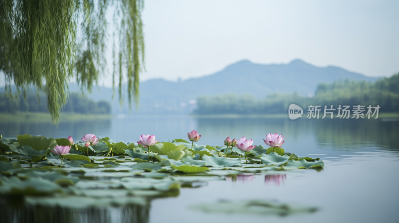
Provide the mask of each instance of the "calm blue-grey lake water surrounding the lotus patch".
[{"label": "calm blue-grey lake water surrounding the lotus patch", "polygon": [[[283,148],[298,156],[320,157],[324,170],[282,172],[276,180],[263,175],[210,181],[199,188],[182,188],[180,195],[151,201],[151,205],[65,210],[40,207],[7,208],[1,222],[88,223],[207,223],[230,222],[398,222],[399,119],[196,118],[139,116],[98,121],[19,123],[0,121],[3,137],[18,134],[78,141],[86,133],[115,141],[136,142],[141,134],[157,139],[187,140],[196,129],[198,144],[222,145],[223,140],[245,136],[267,147],[267,133],[285,136]],[[204,213],[193,205],[220,200],[277,200],[316,207],[314,213],[289,216]]]}]

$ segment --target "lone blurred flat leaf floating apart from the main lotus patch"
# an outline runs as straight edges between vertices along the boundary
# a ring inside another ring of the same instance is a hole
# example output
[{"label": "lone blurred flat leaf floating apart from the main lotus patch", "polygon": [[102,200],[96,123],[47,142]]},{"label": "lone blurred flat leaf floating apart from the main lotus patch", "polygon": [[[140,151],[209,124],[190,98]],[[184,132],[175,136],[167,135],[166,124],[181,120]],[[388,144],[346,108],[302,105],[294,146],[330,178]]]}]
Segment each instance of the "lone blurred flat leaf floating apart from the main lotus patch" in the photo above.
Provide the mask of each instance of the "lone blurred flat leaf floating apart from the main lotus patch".
[{"label": "lone blurred flat leaf floating apart from the main lotus patch", "polygon": [[218,214],[245,214],[245,215],[278,215],[286,216],[297,213],[312,213],[314,207],[291,206],[275,201],[219,201],[191,207],[197,211]]}]

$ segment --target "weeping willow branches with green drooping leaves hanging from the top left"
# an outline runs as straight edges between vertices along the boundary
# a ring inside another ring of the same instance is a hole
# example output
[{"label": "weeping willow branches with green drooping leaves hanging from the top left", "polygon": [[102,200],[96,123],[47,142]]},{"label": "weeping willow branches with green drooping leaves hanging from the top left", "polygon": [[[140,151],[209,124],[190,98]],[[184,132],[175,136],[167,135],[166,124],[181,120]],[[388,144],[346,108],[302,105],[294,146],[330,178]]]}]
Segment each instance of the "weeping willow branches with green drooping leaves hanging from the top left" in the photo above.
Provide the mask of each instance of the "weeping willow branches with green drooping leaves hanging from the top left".
[{"label": "weeping willow branches with green drooping leaves hanging from the top left", "polygon": [[[119,76],[127,77],[127,95],[138,106],[139,73],[144,64],[141,12],[143,0],[0,0],[0,71],[5,92],[26,97],[29,87],[47,95],[52,121],[59,121],[65,105],[68,82],[76,80],[82,91],[98,84],[106,67],[108,44],[106,13],[114,8],[113,90]],[[115,44],[115,38],[119,45]]]}]

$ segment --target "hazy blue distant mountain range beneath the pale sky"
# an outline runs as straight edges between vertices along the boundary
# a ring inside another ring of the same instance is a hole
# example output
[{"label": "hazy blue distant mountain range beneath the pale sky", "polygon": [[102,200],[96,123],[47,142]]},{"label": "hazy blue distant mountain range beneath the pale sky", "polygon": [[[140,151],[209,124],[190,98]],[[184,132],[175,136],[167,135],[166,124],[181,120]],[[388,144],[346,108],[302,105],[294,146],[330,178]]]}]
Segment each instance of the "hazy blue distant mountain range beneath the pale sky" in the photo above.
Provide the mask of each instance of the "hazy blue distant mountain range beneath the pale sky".
[{"label": "hazy blue distant mountain range beneath the pale sky", "polygon": [[[214,96],[227,93],[237,95],[251,94],[257,99],[265,98],[273,93],[294,93],[311,96],[320,83],[332,83],[339,80],[355,80],[374,82],[378,78],[366,77],[359,73],[328,66],[316,67],[302,60],[294,60],[288,64],[255,64],[242,60],[231,64],[223,70],[200,78],[172,82],[153,79],[140,83],[139,113],[190,113],[195,108],[199,96]],[[125,88],[125,87],[124,87]],[[71,84],[71,92],[79,91],[79,87]],[[98,87],[86,96],[99,101],[112,101],[112,89]],[[0,89],[4,91],[4,89]],[[113,113],[129,113],[125,100],[119,106],[118,89],[112,101]],[[122,91],[125,92],[125,89]],[[136,109],[132,107],[132,113]]]}]

